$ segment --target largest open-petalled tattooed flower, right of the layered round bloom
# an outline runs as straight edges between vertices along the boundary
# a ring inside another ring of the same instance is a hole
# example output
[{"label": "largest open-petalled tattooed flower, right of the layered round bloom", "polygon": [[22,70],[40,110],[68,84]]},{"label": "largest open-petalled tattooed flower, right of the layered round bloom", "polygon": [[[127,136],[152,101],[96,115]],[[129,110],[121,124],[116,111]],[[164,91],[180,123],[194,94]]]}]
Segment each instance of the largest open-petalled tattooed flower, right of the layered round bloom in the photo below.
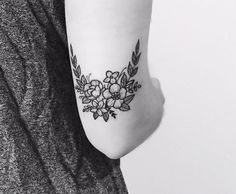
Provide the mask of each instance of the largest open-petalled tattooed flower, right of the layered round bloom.
[{"label": "largest open-petalled tattooed flower, right of the layered round bloom", "polygon": [[126,97],[126,89],[121,88],[119,84],[112,84],[103,92],[103,96],[107,99],[107,106],[119,109]]}]

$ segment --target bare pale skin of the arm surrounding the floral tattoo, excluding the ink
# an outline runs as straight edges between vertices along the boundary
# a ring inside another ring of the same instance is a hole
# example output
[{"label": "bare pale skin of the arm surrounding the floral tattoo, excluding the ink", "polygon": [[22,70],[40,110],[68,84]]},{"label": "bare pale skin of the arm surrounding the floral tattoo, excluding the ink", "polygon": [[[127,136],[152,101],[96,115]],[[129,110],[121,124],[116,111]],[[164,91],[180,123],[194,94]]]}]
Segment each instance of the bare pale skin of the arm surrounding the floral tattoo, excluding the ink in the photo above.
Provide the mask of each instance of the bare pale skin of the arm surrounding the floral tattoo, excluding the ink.
[{"label": "bare pale skin of the arm surrounding the floral tattoo, excluding the ink", "polygon": [[89,141],[109,158],[121,158],[153,134],[163,115],[164,96],[158,79],[150,77],[147,60],[152,1],[66,0],[65,6],[68,42],[73,44],[82,73],[91,73],[93,79],[102,82],[106,71],[121,72],[140,40],[142,55],[135,80],[142,87],[129,111],[118,110],[117,118],[107,122],[95,120],[82,111],[84,105],[75,92]]}]

